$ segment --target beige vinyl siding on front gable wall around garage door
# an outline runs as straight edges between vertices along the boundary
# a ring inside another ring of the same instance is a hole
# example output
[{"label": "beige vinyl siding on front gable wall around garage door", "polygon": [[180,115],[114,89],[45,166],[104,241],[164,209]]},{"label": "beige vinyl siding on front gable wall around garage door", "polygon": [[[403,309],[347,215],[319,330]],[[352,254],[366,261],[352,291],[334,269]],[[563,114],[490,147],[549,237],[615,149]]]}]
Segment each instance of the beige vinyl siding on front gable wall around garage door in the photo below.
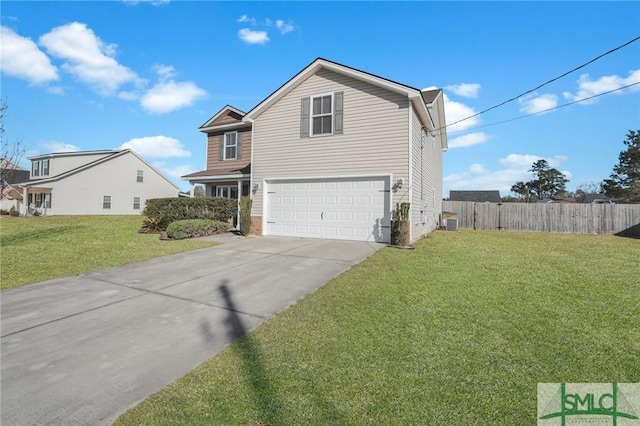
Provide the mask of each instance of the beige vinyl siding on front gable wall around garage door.
[{"label": "beige vinyl siding on front gable wall around garage door", "polygon": [[[300,137],[301,99],[344,93],[344,133]],[[368,83],[321,70],[256,118],[253,126],[253,183],[282,177],[339,177],[392,174],[405,180],[394,194],[408,201],[409,100]],[[253,214],[262,215],[263,191]]]}]

